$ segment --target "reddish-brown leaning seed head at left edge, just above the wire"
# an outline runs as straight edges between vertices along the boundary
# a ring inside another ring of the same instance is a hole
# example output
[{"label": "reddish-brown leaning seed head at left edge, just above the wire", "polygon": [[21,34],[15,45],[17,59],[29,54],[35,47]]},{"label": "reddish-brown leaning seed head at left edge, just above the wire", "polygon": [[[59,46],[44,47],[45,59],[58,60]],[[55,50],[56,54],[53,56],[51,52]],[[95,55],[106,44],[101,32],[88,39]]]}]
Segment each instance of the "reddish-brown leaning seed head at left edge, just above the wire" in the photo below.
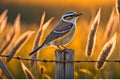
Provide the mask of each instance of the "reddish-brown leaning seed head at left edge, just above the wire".
[{"label": "reddish-brown leaning seed head at left edge, just above the wire", "polygon": [[9,45],[14,39],[14,36],[15,36],[15,30],[12,30],[12,33],[9,34],[10,37],[9,40],[7,40],[5,44],[3,44],[3,46],[1,47],[0,54],[2,54],[5,51],[5,49],[9,47]]}]

